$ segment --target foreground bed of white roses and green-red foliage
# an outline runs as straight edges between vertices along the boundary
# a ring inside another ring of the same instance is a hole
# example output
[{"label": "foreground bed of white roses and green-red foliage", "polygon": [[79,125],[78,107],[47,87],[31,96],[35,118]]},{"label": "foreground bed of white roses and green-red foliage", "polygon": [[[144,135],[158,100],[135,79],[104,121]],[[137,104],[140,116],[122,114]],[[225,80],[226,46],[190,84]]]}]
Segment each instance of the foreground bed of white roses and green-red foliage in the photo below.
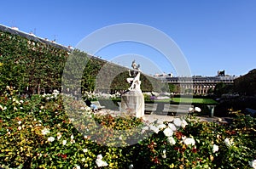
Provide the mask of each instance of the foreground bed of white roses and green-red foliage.
[{"label": "foreground bed of white roses and green-red foliage", "polygon": [[[0,166],[256,167],[256,121],[250,116],[237,114],[230,125],[180,118],[170,123],[143,121],[94,115],[84,104],[64,97],[55,92],[26,99],[7,88],[0,98]],[[130,131],[133,128],[137,130]],[[123,130],[130,132],[116,134]],[[137,144],[131,140],[138,140]],[[115,146],[117,142],[122,146]]]}]

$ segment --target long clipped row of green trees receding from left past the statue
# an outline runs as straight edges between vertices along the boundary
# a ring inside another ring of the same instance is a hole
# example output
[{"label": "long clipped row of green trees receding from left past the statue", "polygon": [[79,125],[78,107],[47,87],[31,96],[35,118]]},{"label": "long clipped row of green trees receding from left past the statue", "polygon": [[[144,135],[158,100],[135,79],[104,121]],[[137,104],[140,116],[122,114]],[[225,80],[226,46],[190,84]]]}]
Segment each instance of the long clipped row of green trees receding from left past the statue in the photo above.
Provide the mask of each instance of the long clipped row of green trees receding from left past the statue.
[{"label": "long clipped row of green trees receding from left past the statue", "polygon": [[[0,93],[6,86],[17,87],[20,93],[49,93],[61,90],[63,84],[71,90],[79,86],[82,91],[119,91],[129,87],[127,77],[127,68],[77,49],[69,51],[0,31]],[[141,81],[143,91],[159,92],[163,85],[146,75]]]}]

